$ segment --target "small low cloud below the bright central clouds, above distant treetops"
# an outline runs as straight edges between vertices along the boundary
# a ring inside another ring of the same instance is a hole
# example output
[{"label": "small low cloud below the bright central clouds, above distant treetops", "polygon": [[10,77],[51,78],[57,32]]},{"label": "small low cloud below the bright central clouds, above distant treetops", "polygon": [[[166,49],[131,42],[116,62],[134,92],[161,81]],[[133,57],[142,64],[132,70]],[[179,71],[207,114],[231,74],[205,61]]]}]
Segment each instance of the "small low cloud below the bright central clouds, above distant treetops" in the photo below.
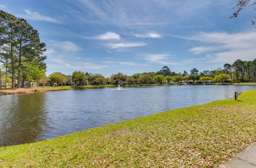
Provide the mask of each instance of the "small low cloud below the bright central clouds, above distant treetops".
[{"label": "small low cloud below the bright central clouds, above distant treetops", "polygon": [[146,54],[144,60],[148,61],[147,63],[157,63],[163,65],[178,65],[179,63],[168,62],[171,55],[169,54]]}]

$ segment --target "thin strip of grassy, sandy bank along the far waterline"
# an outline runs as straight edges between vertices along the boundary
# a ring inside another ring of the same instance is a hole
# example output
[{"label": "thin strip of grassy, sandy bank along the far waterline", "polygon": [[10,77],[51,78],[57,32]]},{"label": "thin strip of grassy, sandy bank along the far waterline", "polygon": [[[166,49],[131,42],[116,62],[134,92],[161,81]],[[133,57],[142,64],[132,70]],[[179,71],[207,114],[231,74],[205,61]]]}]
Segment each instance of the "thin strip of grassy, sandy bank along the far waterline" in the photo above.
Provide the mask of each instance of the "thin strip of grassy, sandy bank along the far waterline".
[{"label": "thin strip of grassy, sandy bank along the far waterline", "polygon": [[[146,86],[168,86],[168,85],[256,85],[256,82],[246,83],[154,83],[154,84],[138,84],[138,85],[121,85],[121,87],[146,87]],[[2,89],[0,95],[12,95],[12,94],[29,94],[29,93],[41,93],[48,91],[60,91],[69,90],[71,88],[81,89],[97,89],[106,87],[116,87],[115,85],[86,85],[86,86],[58,86],[58,87],[25,87],[25,88],[14,88],[14,89]]]}]

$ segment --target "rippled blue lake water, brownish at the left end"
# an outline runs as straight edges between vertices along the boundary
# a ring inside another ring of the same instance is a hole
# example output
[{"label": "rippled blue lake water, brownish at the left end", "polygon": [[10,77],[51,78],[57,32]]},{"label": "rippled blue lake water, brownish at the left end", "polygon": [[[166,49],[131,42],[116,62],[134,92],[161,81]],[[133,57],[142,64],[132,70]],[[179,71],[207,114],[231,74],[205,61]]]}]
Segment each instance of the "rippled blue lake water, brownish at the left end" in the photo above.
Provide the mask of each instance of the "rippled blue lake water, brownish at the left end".
[{"label": "rippled blue lake water, brownish at the left end", "polygon": [[0,146],[42,141],[162,111],[233,98],[256,86],[71,89],[0,96]]}]

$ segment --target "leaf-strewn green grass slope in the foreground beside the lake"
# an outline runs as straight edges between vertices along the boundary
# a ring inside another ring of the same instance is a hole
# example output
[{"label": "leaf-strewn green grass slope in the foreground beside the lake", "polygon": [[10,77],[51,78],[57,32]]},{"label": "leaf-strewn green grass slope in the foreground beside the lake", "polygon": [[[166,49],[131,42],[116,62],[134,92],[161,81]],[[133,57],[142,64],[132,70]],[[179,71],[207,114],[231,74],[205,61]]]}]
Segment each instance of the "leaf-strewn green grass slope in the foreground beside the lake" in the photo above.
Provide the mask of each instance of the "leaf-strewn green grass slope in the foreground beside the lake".
[{"label": "leaf-strewn green grass slope in the foreground beside the lake", "polygon": [[0,148],[0,166],[218,166],[256,141],[256,90]]}]

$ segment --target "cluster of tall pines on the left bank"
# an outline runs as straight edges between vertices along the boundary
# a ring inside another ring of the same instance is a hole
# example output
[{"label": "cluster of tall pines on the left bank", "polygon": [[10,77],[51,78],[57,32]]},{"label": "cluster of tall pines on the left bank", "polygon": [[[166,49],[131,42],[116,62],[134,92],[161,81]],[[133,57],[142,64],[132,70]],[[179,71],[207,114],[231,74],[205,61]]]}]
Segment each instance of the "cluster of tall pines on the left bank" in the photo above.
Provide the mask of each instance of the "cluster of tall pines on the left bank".
[{"label": "cluster of tall pines on the left bank", "polygon": [[39,83],[46,72],[47,57],[42,55],[45,46],[24,18],[0,10],[0,89],[2,83],[6,88],[7,82],[11,82],[11,88],[24,87],[25,81]]}]

